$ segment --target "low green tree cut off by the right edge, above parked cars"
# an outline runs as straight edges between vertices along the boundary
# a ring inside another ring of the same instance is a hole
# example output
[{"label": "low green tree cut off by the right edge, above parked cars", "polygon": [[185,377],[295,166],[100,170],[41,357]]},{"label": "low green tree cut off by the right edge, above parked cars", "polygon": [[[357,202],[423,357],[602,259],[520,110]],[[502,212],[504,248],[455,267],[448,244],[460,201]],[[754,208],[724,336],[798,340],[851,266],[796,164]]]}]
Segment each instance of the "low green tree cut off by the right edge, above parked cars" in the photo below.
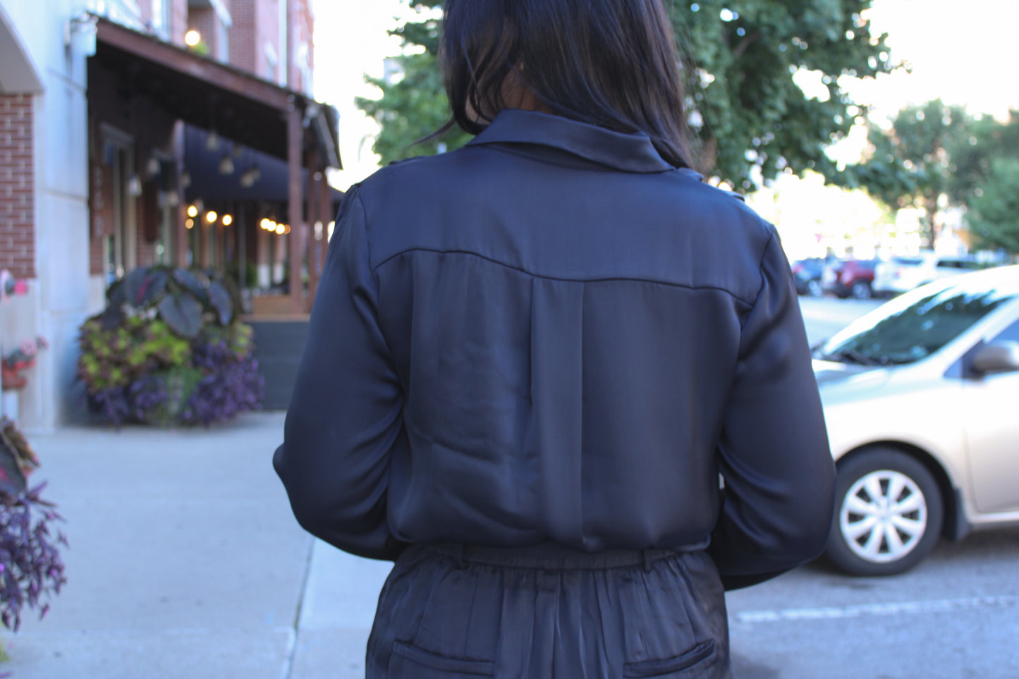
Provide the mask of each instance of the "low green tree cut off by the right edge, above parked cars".
[{"label": "low green tree cut off by the right edge, above parked cars", "polygon": [[967,219],[979,248],[1019,254],[1019,157],[994,158]]}]

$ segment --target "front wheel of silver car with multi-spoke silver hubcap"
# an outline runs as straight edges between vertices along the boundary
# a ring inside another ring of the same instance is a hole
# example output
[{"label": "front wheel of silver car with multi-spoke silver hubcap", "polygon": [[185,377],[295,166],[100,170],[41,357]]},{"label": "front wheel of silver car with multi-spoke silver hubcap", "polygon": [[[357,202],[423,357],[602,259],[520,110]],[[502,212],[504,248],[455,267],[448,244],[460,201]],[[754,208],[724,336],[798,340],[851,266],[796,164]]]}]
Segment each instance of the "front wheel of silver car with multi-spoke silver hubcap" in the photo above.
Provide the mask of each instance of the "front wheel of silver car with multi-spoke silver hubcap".
[{"label": "front wheel of silver car with multi-spoke silver hubcap", "polygon": [[943,515],[922,464],[891,449],[859,453],[839,467],[827,556],[853,575],[903,573],[933,549]]}]

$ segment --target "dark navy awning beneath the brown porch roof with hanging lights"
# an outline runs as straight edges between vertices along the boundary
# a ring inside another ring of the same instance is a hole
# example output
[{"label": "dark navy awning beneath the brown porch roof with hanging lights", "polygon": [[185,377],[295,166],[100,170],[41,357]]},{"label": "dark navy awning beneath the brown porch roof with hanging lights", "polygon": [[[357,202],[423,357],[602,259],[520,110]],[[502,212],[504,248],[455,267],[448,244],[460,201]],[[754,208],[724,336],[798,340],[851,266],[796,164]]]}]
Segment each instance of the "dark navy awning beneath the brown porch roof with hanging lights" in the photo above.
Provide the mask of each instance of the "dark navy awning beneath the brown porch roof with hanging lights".
[{"label": "dark navy awning beneath the brown porch roof with hanging lights", "polygon": [[[209,133],[187,125],[184,128],[184,169],[191,184],[184,189],[184,200],[192,203],[204,201],[266,201],[285,203],[288,200],[286,163],[274,156],[243,146],[234,153],[234,143],[220,139],[218,148],[207,148]],[[233,171],[220,173],[223,157],[227,156]],[[259,178],[251,187],[242,184],[242,176],[253,167],[258,168]],[[301,174],[302,198],[307,199],[308,170]],[[333,211],[338,208],[343,194],[331,189]]]}]

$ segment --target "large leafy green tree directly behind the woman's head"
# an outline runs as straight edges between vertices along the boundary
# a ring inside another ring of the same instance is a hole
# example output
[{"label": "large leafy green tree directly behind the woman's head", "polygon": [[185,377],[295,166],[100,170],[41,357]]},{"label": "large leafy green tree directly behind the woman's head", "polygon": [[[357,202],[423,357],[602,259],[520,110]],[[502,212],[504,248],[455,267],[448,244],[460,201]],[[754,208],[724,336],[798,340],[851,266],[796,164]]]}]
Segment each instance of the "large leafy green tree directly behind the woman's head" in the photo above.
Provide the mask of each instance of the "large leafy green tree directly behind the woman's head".
[{"label": "large leafy green tree directly behind the woman's head", "polygon": [[[433,8],[441,0],[410,0]],[[844,137],[865,107],[849,100],[841,76],[888,72],[886,36],[874,36],[863,13],[871,0],[699,0],[666,2],[684,55],[688,119],[700,169],[751,189],[790,170],[836,169],[825,148]],[[408,22],[395,35],[420,53],[397,57],[403,80],[370,80],[380,99],[358,105],[382,126],[375,151],[383,162],[434,153],[437,141],[411,146],[448,119],[435,73],[438,21]],[[423,51],[421,51],[423,50]],[[819,97],[797,85],[813,80]],[[469,138],[442,140],[453,149]]]}]

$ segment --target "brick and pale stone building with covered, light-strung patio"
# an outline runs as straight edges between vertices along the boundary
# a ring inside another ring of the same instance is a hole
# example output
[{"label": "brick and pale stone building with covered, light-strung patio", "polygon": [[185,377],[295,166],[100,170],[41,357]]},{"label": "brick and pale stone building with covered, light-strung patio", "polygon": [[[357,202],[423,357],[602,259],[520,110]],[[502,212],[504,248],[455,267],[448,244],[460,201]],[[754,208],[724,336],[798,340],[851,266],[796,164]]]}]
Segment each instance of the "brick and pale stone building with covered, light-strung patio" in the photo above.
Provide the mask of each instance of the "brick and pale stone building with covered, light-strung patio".
[{"label": "brick and pale stone building with covered, light-strung patio", "polygon": [[[75,419],[77,328],[136,266],[257,266],[277,310],[307,310],[339,165],[335,112],[310,95],[310,1],[0,0],[0,268],[30,282],[0,308],[0,351],[50,342],[22,426]],[[195,136],[209,152],[185,158]],[[307,291],[279,290],[281,258]]]}]

